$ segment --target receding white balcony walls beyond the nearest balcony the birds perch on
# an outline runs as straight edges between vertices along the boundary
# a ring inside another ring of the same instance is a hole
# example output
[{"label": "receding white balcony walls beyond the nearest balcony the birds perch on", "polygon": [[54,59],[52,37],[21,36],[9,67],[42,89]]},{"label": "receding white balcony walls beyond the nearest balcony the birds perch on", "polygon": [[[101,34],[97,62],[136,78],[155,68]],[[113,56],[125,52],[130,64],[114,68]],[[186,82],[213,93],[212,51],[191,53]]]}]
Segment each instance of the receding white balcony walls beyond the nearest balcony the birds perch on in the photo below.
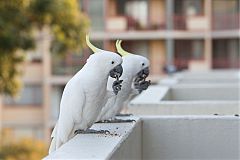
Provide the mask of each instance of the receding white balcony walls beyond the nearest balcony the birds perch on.
[{"label": "receding white balcony walls beyond the nearest balcony the birds perch on", "polygon": [[151,86],[129,104],[135,115],[239,114],[239,72],[183,72]]}]

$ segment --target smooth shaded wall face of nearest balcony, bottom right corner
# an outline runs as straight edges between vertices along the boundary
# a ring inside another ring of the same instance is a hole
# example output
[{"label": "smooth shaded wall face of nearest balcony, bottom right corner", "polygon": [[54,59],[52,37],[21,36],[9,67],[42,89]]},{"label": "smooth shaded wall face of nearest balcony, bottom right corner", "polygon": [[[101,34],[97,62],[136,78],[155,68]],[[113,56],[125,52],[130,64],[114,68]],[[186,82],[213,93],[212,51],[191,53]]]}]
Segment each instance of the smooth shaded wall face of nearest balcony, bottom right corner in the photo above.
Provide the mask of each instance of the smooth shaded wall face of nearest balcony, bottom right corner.
[{"label": "smooth shaded wall face of nearest balcony, bottom right corner", "polygon": [[239,159],[238,117],[143,120],[143,159]]}]

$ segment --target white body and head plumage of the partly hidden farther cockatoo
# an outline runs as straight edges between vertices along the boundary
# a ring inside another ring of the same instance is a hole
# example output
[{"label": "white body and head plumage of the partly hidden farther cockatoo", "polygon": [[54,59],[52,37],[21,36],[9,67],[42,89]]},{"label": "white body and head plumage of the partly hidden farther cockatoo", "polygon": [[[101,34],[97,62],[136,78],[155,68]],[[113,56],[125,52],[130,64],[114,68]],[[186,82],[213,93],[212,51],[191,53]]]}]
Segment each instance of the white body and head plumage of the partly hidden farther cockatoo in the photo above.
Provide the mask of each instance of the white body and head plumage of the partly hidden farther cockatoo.
[{"label": "white body and head plumage of the partly hidden farther cockatoo", "polygon": [[[149,66],[149,60],[143,56],[130,54],[123,57],[123,74],[121,76],[122,89],[119,93],[108,99],[105,106],[102,108],[100,115],[97,118],[97,121],[107,120],[115,117],[118,114],[123,106],[124,102],[126,102],[130,95],[134,95],[136,89],[132,88],[133,79],[136,74],[143,69],[142,63],[145,63],[144,67]],[[108,86],[111,86],[113,83],[113,79],[108,79]]]}]

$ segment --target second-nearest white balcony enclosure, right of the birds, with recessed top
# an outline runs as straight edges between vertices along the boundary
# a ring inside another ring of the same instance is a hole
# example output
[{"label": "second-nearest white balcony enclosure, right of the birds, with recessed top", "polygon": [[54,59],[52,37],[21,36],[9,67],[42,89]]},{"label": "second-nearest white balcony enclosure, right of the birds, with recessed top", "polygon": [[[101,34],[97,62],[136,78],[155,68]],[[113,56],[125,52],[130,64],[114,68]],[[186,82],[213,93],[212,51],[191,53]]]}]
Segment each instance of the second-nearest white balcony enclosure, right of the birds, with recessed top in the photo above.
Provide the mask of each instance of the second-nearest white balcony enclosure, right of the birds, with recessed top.
[{"label": "second-nearest white balcony enclosure, right of the birds, with recessed top", "polygon": [[235,85],[150,86],[128,105],[135,115],[239,114],[239,88]]}]

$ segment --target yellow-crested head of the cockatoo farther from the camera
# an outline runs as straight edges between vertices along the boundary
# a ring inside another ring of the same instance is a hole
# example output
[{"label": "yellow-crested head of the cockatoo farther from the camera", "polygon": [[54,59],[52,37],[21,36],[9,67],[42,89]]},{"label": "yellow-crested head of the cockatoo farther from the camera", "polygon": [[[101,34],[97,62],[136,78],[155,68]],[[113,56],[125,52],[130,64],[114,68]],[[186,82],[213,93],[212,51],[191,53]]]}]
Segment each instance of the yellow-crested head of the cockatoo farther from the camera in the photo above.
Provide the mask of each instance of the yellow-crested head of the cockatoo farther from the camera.
[{"label": "yellow-crested head of the cockatoo farther from the camera", "polygon": [[[116,42],[118,53],[122,55],[124,70],[134,78],[135,88],[139,92],[145,90],[150,85],[150,81],[145,81],[149,75],[149,60],[143,56],[129,53],[121,47],[121,40]],[[126,73],[124,71],[124,73]]]}]

